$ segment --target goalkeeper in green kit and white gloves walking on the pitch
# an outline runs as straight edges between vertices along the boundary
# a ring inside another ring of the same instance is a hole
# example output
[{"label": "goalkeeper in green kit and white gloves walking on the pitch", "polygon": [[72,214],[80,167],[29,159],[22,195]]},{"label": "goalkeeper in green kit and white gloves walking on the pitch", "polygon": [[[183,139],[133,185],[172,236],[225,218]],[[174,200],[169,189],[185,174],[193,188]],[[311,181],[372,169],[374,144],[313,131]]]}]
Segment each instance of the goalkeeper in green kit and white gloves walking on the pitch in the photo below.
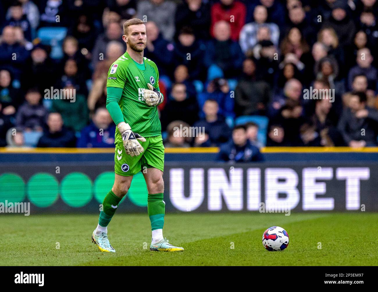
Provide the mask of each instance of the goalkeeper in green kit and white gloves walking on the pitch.
[{"label": "goalkeeper in green kit and white gloves walking on the pitch", "polygon": [[[115,134],[115,181],[102,204],[92,241],[102,252],[115,252],[107,236],[107,226],[118,204],[130,188],[133,175],[143,170],[148,189],[147,208],[152,228],[150,250],[176,252],[163,238],[165,214],[164,146],[156,106],[163,102],[159,72],[155,63],[143,57],[146,26],[140,19],[127,20],[122,39],[124,55],[108,71],[106,107],[117,125]],[[131,227],[131,226],[130,226]]]}]

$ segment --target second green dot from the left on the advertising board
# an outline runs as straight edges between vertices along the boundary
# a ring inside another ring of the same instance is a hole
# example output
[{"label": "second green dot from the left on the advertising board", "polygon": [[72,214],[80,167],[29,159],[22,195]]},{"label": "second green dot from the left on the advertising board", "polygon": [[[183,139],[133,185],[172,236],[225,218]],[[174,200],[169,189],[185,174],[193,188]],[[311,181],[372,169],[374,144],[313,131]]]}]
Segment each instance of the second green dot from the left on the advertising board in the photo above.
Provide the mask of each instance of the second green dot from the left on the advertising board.
[{"label": "second green dot from the left on the advertising board", "polygon": [[58,185],[56,178],[49,173],[34,174],[27,185],[30,202],[40,208],[50,207],[58,198]]}]

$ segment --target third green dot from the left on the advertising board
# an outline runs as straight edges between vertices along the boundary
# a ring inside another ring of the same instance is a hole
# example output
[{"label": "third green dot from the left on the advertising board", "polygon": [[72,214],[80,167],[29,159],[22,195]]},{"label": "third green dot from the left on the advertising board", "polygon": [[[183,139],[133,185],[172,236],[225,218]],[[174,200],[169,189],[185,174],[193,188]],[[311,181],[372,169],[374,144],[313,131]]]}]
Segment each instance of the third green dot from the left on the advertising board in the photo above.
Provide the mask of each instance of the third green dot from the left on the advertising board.
[{"label": "third green dot from the left on the advertising board", "polygon": [[71,172],[60,183],[60,196],[71,207],[83,207],[92,199],[92,181],[82,172]]}]

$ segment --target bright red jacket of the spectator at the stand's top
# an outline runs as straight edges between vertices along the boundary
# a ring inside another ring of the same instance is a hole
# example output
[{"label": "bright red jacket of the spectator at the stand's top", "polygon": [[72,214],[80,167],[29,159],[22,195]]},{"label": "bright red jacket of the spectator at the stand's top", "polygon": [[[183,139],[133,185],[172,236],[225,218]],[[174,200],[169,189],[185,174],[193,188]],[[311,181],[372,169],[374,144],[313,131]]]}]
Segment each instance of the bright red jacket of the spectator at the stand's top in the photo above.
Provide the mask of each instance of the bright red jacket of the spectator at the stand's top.
[{"label": "bright red jacket of the spectator at the stand's top", "polygon": [[240,30],[245,25],[246,8],[239,1],[220,0],[211,7],[211,27],[210,33],[214,37],[214,25],[220,20],[225,20],[231,26],[231,39],[239,40]]}]

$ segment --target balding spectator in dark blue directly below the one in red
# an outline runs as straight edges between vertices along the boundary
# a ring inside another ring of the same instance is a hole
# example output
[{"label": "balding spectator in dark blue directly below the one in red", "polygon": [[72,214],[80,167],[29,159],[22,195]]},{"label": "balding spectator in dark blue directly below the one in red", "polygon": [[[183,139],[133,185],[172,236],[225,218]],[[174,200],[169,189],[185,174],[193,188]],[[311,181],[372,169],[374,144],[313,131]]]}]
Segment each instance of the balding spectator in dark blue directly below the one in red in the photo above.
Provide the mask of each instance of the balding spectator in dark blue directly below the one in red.
[{"label": "balding spectator in dark blue directly below the one in red", "polygon": [[243,52],[238,42],[230,39],[231,26],[224,20],[214,25],[214,39],[206,45],[204,64],[206,67],[216,65],[225,78],[235,78],[240,75],[243,65]]}]

